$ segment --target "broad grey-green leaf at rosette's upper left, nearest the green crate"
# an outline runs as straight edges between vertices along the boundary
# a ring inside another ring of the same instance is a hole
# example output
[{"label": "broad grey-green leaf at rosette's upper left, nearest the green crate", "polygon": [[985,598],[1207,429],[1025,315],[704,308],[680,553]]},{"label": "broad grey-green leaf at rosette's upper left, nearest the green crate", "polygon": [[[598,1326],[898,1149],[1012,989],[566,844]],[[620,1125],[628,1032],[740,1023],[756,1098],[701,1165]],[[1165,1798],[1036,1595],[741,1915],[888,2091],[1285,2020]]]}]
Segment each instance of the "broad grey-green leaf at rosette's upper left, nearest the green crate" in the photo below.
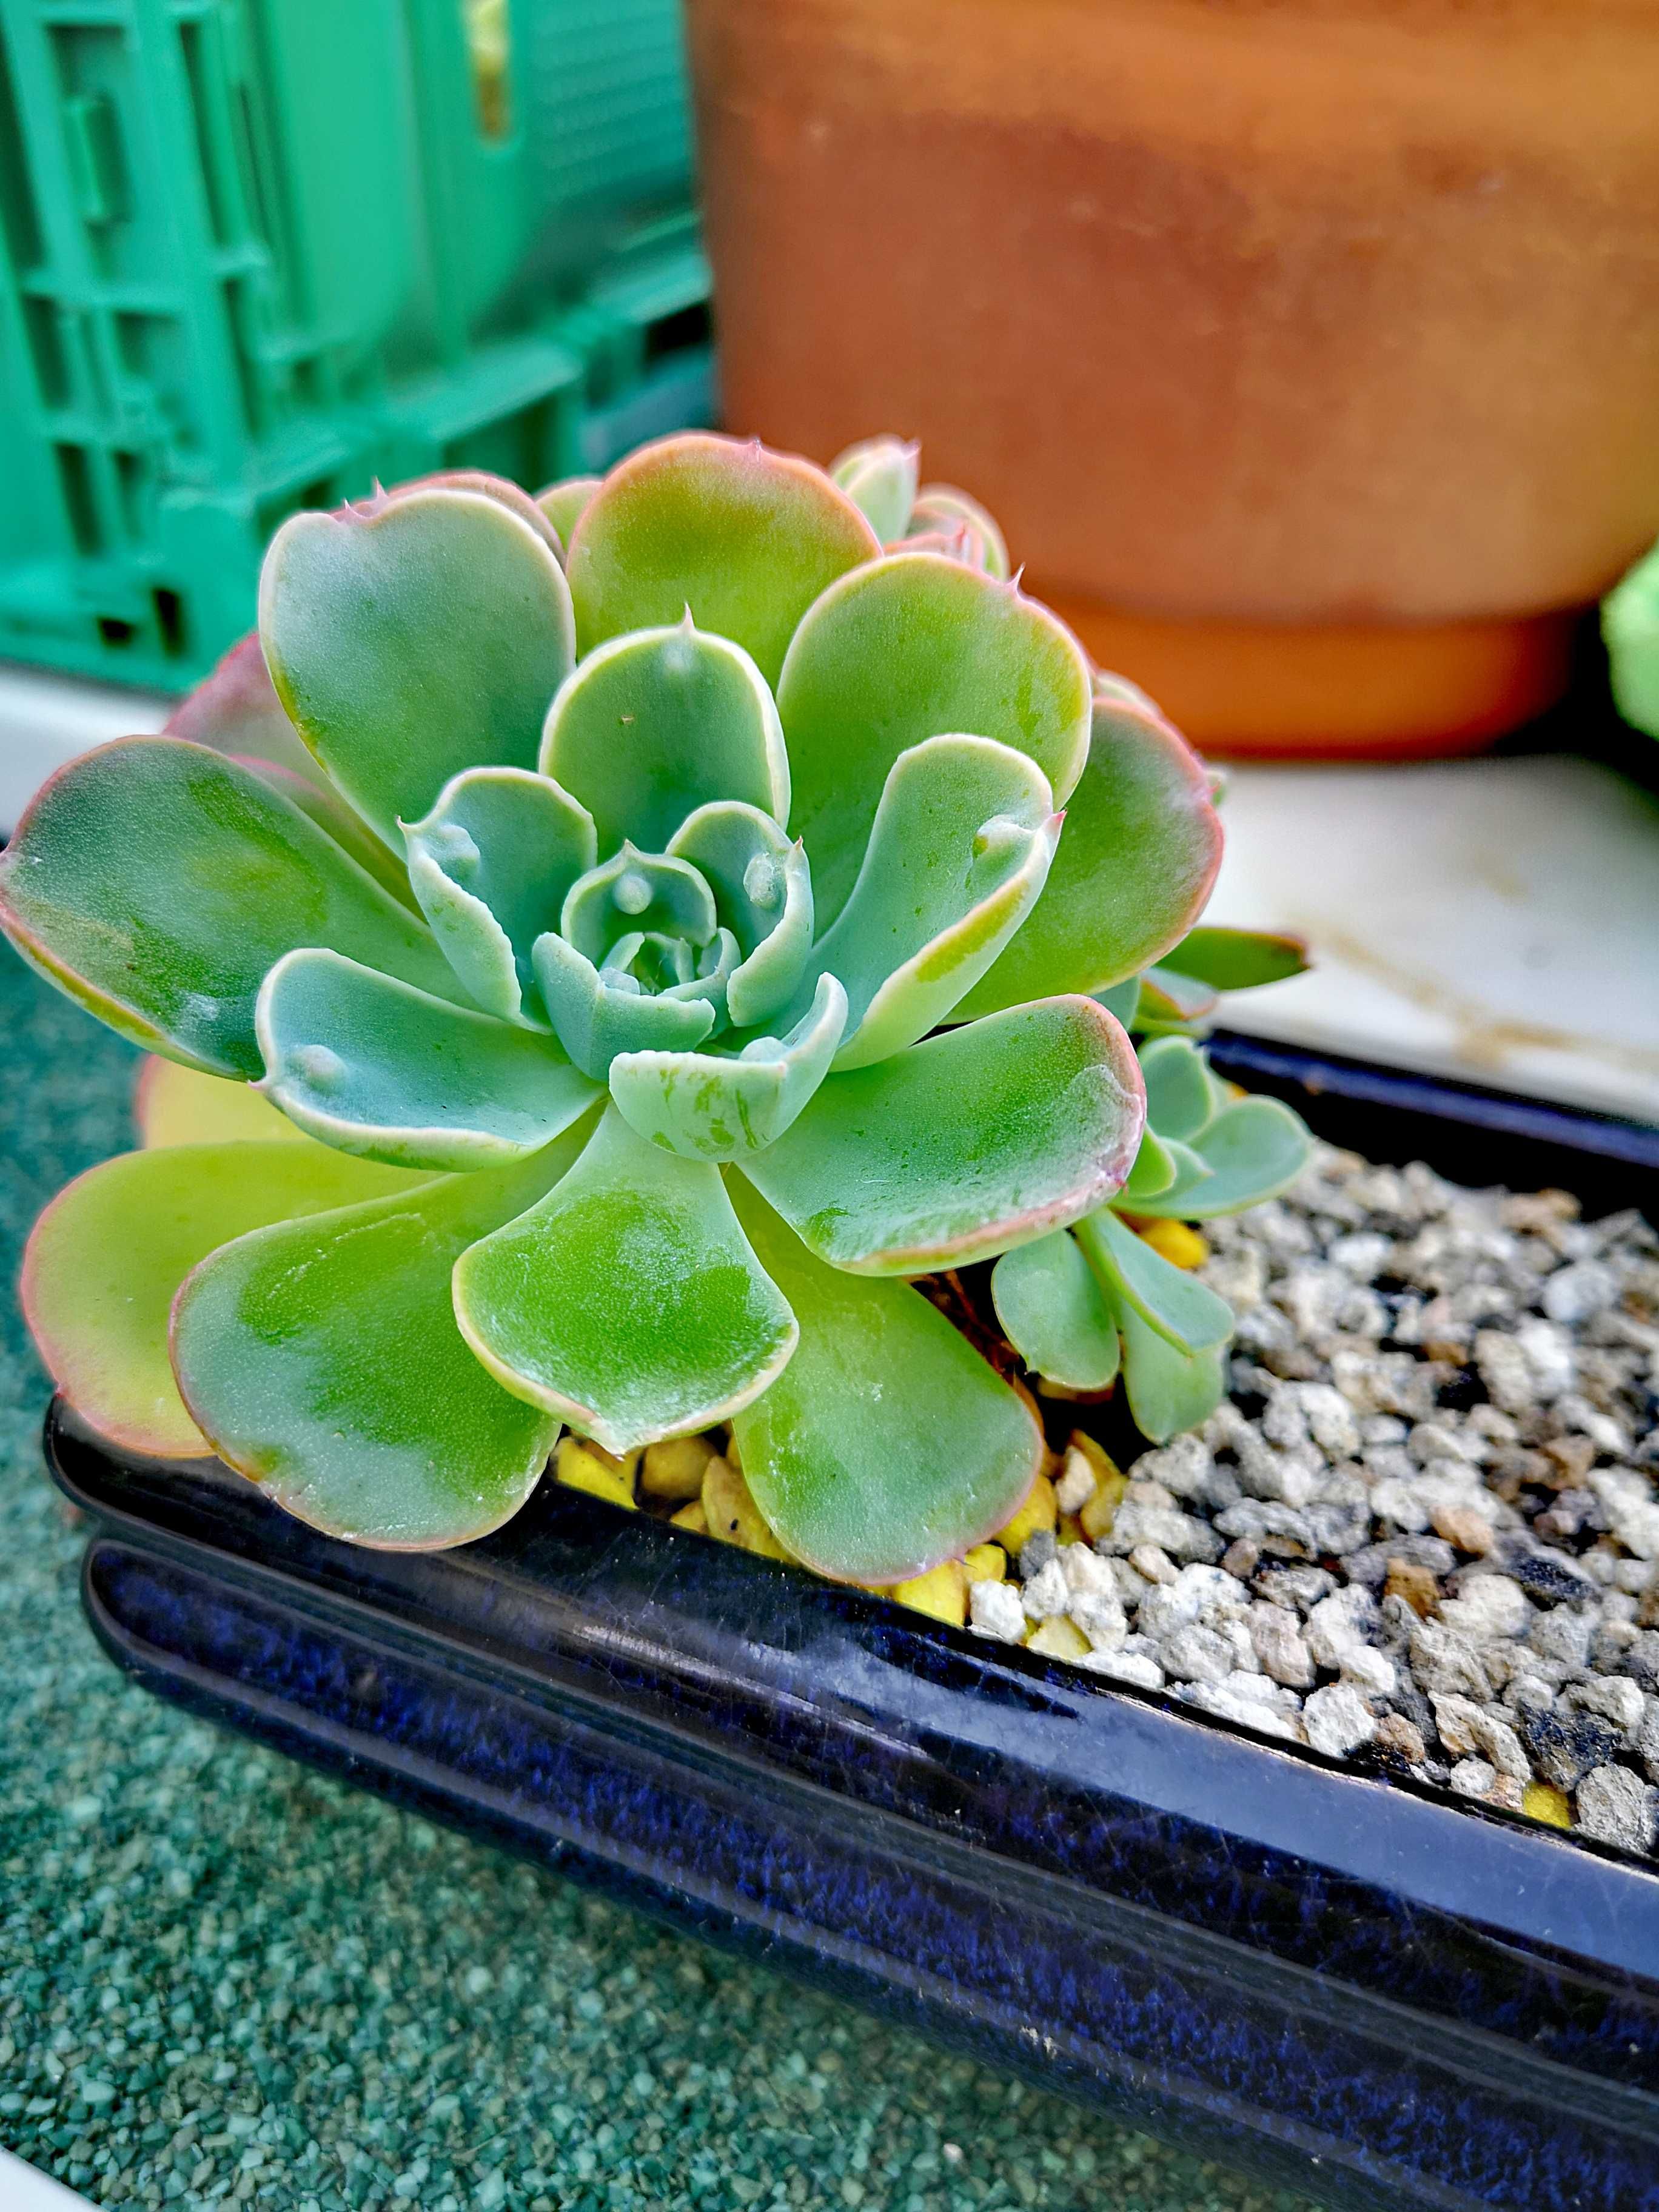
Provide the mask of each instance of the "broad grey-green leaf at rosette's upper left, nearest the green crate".
[{"label": "broad grey-green leaf at rosette's upper left, nearest the green crate", "polygon": [[259,575],[259,637],[290,721],[394,852],[462,768],[535,765],[575,659],[546,538],[442,484],[290,515]]}]

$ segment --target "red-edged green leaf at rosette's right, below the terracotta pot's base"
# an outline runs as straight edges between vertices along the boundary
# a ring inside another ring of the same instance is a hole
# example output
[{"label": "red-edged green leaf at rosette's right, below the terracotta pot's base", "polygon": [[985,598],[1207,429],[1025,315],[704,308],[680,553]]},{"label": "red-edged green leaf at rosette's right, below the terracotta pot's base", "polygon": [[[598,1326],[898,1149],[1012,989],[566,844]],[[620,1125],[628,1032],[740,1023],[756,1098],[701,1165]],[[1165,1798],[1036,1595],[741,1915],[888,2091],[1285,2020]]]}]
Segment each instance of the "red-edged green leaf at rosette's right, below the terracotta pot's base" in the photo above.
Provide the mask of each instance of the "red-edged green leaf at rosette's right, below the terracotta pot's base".
[{"label": "red-edged green leaf at rosette's right, below the terracotta pot's base", "polygon": [[962,1018],[1128,982],[1186,936],[1219,867],[1221,821],[1199,759],[1161,717],[1097,697],[1044,894]]}]

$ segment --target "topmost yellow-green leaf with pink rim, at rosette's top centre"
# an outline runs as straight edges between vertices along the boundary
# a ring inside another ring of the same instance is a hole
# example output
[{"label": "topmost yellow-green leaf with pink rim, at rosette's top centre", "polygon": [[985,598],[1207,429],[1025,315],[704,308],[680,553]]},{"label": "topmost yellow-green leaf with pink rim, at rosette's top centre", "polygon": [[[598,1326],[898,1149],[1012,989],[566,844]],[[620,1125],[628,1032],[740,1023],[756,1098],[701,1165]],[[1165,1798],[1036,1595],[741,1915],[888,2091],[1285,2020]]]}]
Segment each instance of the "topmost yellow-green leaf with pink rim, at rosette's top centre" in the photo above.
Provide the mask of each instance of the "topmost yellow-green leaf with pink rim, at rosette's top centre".
[{"label": "topmost yellow-green leaf with pink rim, at rosette's top centre", "polygon": [[776,684],[796,624],[880,542],[823,469],[737,438],[646,445],[606,476],[568,540],[577,646],[679,622],[717,630]]}]

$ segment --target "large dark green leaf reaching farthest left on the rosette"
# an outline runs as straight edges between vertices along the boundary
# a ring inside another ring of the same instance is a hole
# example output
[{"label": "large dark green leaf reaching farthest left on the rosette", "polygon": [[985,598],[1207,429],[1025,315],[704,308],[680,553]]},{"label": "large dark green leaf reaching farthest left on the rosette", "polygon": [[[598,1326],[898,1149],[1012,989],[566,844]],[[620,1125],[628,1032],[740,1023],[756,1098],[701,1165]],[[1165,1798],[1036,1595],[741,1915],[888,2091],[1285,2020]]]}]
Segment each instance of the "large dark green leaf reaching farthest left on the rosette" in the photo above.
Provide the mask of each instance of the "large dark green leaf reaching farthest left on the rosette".
[{"label": "large dark green leaf reaching farthest left on the rosette", "polygon": [[0,854],[0,925],[122,1037],[208,1075],[259,1075],[254,995],[299,945],[460,995],[425,922],[332,836],[177,737],[115,739],[42,783]]}]

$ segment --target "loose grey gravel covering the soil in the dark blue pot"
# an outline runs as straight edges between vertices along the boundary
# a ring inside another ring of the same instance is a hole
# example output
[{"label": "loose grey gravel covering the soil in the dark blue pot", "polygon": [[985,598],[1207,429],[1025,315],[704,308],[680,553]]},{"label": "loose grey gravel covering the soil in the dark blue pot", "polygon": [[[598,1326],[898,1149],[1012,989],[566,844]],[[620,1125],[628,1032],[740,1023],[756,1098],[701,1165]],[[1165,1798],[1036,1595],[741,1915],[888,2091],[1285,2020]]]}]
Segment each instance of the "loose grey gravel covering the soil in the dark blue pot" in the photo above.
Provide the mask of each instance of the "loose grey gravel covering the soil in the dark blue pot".
[{"label": "loose grey gravel covering the soil in the dark blue pot", "polygon": [[975,1626],[1068,1617],[1102,1674],[1652,1854],[1659,1237],[1329,1146],[1206,1234],[1232,1400]]}]

